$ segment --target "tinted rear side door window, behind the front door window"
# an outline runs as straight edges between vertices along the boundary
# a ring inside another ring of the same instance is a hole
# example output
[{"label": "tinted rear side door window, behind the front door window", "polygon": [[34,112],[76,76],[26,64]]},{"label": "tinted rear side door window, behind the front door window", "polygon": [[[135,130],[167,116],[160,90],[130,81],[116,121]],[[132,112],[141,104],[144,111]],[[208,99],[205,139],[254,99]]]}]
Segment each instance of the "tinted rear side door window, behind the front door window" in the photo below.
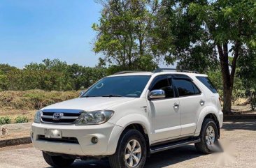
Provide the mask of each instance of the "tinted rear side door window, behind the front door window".
[{"label": "tinted rear side door window, behind the front door window", "polygon": [[201,93],[193,82],[185,79],[175,79],[176,88],[179,96],[192,96]]}]

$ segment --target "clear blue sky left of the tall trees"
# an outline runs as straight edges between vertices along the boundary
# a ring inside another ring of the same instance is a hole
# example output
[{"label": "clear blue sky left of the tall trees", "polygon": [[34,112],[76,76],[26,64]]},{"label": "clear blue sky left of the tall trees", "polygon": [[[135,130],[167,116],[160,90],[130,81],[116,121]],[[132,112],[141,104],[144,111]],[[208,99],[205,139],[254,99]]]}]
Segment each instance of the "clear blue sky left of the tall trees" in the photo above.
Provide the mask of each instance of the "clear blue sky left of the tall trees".
[{"label": "clear blue sky left of the tall trees", "polygon": [[0,0],[0,63],[22,68],[43,59],[95,66],[101,5],[94,0]]}]

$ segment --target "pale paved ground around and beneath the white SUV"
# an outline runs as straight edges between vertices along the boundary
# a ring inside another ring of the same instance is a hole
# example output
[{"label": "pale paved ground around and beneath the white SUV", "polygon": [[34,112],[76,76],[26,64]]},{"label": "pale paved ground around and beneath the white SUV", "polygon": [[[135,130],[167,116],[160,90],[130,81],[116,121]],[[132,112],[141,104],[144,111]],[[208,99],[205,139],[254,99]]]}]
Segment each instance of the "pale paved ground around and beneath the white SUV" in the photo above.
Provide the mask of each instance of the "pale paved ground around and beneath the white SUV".
[{"label": "pale paved ground around and beneath the white SUV", "polygon": [[[183,146],[169,151],[155,153],[148,158],[145,168],[162,167],[256,167],[256,121],[226,122],[221,131],[224,153],[200,155],[194,146]],[[49,167],[41,152],[31,144],[0,148],[1,168]],[[76,168],[110,168],[106,160],[80,161]]]}]

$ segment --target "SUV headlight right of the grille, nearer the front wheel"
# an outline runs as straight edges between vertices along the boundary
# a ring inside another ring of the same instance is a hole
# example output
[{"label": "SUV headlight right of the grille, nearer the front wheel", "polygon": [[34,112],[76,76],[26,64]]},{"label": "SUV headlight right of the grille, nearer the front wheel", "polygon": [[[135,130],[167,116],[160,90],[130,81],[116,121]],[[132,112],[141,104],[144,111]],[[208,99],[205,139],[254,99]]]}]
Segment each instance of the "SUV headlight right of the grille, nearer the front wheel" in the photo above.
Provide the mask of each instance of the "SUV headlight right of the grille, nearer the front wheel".
[{"label": "SUV headlight right of the grille, nearer the front wheel", "polygon": [[106,123],[106,121],[111,119],[111,116],[113,116],[113,114],[114,112],[111,110],[83,112],[80,115],[78,121],[76,122],[76,125],[95,125]]}]

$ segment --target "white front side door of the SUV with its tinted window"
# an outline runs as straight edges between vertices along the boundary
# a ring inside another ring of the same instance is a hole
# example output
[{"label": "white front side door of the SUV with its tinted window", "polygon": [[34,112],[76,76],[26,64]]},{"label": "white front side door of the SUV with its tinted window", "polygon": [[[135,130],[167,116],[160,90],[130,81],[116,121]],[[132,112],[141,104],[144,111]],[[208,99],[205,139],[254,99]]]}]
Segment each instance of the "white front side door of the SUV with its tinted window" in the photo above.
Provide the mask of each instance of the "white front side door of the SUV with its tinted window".
[{"label": "white front side door of the SUV with its tinted window", "polygon": [[149,91],[162,89],[166,98],[148,100],[151,115],[152,142],[180,136],[180,103],[175,96],[171,80],[166,75],[155,77]]}]

